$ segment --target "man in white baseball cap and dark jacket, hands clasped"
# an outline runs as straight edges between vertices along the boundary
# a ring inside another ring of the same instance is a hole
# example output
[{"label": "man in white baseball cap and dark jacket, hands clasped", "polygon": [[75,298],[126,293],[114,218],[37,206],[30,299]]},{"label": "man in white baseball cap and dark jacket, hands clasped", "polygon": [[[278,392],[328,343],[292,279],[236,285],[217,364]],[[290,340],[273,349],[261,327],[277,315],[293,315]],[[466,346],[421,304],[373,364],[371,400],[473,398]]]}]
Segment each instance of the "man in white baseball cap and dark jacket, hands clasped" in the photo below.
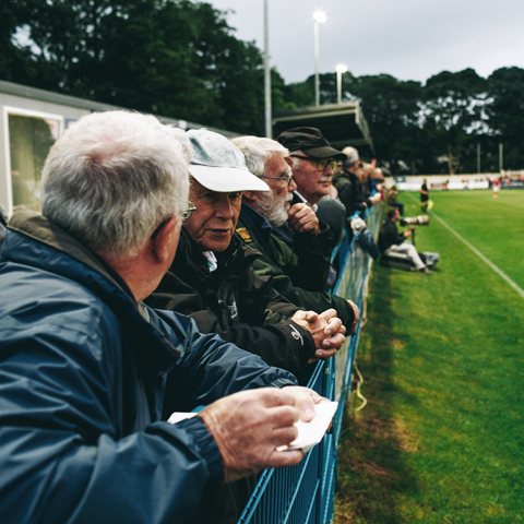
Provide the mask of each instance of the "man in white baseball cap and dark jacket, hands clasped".
[{"label": "man in white baseball cap and dark jacket, hands clasped", "polygon": [[187,314],[202,333],[217,333],[298,377],[308,361],[333,356],[344,342],[341,334],[324,335],[317,324],[336,333],[341,321],[334,310],[319,318],[302,311],[254,272],[251,264],[261,254],[242,243],[235,228],[242,191],[270,188],[248,171],[243,155],[225,136],[206,129],[187,136],[194,211],[183,222],[169,271],[145,302]]}]

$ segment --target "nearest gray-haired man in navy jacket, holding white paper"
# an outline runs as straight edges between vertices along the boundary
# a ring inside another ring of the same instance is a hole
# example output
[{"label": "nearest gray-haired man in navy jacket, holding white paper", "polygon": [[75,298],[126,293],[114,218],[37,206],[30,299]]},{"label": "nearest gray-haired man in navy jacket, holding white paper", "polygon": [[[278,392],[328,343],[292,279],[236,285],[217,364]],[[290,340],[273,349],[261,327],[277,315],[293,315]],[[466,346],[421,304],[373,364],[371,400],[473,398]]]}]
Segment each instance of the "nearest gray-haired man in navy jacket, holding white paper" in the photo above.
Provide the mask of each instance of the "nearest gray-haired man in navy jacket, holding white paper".
[{"label": "nearest gray-haired man in navy jacket, holding white paper", "polygon": [[[1,522],[182,523],[206,487],[301,460],[276,448],[297,437],[299,416],[311,419],[314,392],[142,303],[175,255],[188,160],[184,135],[153,117],[92,114],[50,150],[43,214],[11,217]],[[166,377],[178,384],[169,397]],[[163,404],[207,407],[170,425]]]}]

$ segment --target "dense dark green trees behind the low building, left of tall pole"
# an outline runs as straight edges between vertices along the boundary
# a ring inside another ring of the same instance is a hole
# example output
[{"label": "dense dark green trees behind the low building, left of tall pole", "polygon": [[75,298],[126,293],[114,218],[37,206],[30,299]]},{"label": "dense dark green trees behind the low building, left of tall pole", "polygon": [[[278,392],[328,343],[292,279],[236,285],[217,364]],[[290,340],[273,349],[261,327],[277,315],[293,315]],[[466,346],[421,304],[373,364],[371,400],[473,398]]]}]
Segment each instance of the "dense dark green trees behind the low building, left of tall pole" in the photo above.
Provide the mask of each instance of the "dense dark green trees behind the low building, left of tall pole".
[{"label": "dense dark green trees behind the low building, left of tall pole", "polygon": [[209,3],[17,0],[11,11],[17,15],[11,36],[16,26],[28,28],[29,85],[239,132],[260,130],[262,55],[237,39],[225,13]]}]

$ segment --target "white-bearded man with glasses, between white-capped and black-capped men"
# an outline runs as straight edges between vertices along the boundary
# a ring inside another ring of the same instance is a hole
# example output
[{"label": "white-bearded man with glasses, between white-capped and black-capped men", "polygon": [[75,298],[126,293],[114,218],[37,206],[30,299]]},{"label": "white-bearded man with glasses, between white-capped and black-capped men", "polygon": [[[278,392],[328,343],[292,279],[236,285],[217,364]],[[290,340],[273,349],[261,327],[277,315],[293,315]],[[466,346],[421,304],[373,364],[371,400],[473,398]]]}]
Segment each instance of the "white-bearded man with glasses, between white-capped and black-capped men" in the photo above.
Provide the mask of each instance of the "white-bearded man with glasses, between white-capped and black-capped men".
[{"label": "white-bearded man with glasses, between white-capped and black-capped men", "polygon": [[[297,184],[295,175],[288,183],[293,164],[289,151],[274,140],[258,136],[239,136],[233,142],[243,153],[249,171],[271,189],[269,193],[245,191],[242,196],[237,234],[262,253],[253,261],[253,269],[261,276],[271,276],[273,287],[293,303],[317,312],[336,310],[353,332],[359,319],[356,305],[323,291],[331,260],[331,230],[319,222],[309,204],[300,200],[291,206]],[[295,231],[293,251],[274,234],[286,215]],[[317,228],[320,233],[315,235]]]}]

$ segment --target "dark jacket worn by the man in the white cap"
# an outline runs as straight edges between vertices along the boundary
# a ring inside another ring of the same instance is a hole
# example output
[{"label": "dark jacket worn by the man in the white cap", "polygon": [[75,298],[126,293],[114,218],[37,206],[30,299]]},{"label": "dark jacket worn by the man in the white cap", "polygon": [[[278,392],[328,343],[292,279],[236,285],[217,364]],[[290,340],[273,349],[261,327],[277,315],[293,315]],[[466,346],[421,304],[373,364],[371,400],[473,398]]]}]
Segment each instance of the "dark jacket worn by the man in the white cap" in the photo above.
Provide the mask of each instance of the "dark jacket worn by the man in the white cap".
[{"label": "dark jacket worn by the man in the white cap", "polygon": [[217,269],[210,272],[200,247],[182,228],[171,267],[145,302],[187,314],[202,333],[217,333],[270,366],[298,376],[314,355],[314,341],[289,320],[302,308],[276,293],[271,278],[253,271],[260,257],[234,236],[228,249],[216,253]]}]

